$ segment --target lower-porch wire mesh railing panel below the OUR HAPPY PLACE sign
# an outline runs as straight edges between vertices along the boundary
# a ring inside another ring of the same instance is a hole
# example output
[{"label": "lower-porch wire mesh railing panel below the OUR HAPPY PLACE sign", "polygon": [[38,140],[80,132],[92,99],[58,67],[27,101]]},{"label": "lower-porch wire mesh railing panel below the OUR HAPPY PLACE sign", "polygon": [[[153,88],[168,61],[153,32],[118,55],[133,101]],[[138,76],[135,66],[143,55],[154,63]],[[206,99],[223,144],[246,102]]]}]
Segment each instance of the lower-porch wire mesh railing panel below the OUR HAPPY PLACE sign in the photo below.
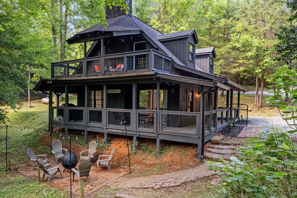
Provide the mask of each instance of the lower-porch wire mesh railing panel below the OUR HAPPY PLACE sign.
[{"label": "lower-porch wire mesh railing panel below the OUR HAPPY PLACE sign", "polygon": [[124,121],[126,125],[130,125],[131,112],[108,111],[108,125],[124,126]]}]

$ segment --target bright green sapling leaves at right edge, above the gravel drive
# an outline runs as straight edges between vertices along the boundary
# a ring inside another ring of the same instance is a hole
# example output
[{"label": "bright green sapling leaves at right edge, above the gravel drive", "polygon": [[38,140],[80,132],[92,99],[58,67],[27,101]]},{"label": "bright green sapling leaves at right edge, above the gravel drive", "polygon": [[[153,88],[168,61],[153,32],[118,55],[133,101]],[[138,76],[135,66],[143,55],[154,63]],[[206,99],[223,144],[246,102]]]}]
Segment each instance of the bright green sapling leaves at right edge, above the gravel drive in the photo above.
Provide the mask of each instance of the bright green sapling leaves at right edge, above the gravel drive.
[{"label": "bright green sapling leaves at right edge, above the gravel drive", "polygon": [[[279,110],[282,118],[291,127],[289,133],[297,131],[297,115],[296,115],[296,99],[297,99],[297,74],[295,70],[281,67],[273,75],[270,75],[272,81],[275,83],[276,91],[274,96],[266,98],[269,107],[276,107]],[[272,87],[271,85],[270,87]],[[271,91],[273,93],[274,91]],[[285,100],[285,94],[287,94],[287,100]],[[289,121],[293,121],[293,124]]]}]

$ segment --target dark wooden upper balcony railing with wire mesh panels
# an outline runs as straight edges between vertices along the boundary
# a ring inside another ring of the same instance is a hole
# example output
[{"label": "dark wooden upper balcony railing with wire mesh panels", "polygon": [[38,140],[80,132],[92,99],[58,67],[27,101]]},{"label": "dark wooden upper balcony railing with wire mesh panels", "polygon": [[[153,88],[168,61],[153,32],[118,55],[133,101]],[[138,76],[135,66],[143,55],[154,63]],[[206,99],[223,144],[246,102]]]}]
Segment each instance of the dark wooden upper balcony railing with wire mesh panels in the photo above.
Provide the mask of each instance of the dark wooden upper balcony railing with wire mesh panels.
[{"label": "dark wooden upper balcony railing with wire mesh panels", "polygon": [[51,77],[82,77],[157,71],[170,73],[172,59],[157,50],[140,50],[51,64]]}]

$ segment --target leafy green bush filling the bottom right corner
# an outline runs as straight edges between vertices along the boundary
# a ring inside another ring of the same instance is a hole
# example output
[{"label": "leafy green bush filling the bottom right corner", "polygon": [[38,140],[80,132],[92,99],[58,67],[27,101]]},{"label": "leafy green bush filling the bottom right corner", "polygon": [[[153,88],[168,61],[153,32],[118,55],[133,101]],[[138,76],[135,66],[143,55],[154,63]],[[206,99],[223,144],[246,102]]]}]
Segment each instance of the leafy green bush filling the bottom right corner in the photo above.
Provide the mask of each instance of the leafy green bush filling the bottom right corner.
[{"label": "leafy green bush filling the bottom right corner", "polygon": [[[239,148],[239,157],[209,162],[221,175],[222,197],[297,197],[297,145],[285,133],[267,132]],[[219,196],[212,196],[219,197]]]}]

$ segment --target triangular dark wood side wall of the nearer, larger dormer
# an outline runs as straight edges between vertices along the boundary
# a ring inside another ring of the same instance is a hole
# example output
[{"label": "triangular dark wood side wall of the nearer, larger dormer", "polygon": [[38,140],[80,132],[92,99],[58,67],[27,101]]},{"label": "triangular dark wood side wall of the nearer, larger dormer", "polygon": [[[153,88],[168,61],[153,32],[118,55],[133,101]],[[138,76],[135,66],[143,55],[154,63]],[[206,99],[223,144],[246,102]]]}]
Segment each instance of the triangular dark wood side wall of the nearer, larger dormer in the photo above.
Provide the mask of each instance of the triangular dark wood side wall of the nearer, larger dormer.
[{"label": "triangular dark wood side wall of the nearer, larger dormer", "polygon": [[187,65],[189,60],[189,44],[188,39],[175,39],[162,42],[168,50],[170,50],[183,64]]}]

